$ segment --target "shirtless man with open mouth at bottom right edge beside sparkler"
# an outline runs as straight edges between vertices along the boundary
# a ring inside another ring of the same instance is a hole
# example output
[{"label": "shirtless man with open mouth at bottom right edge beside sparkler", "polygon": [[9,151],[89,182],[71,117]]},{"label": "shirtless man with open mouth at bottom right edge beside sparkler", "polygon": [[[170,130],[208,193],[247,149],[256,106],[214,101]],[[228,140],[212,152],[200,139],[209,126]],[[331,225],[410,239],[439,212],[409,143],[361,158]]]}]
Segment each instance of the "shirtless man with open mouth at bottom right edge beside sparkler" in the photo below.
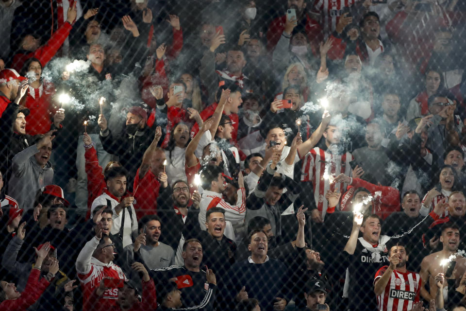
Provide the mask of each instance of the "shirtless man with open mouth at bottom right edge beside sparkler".
[{"label": "shirtless man with open mouth at bottom right edge beside sparkler", "polygon": [[[422,280],[421,296],[427,301],[434,299],[437,293],[437,286],[435,285],[434,277],[439,273],[447,272],[447,266],[444,267],[445,271],[442,271],[440,261],[449,258],[450,255],[455,254],[458,250],[460,242],[460,231],[458,226],[451,222],[443,225],[440,242],[443,244],[443,249],[424,257],[421,262],[421,271],[419,272]],[[464,257],[457,256],[453,261],[456,261],[456,265],[452,275],[448,278],[455,279],[456,288],[459,286],[460,280],[466,271],[466,259]],[[425,288],[427,280],[429,280],[429,287],[431,289],[430,293]]]}]

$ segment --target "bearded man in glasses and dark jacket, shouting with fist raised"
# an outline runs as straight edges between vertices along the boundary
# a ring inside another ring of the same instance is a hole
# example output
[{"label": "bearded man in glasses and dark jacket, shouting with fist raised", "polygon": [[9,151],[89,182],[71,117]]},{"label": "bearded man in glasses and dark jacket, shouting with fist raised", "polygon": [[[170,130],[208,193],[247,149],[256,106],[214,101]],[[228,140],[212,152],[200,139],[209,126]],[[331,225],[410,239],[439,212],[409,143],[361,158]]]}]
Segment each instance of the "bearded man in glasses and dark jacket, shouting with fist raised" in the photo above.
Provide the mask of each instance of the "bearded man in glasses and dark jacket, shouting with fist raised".
[{"label": "bearded man in glasses and dark jacket, shouting with fist raised", "polygon": [[162,224],[170,228],[170,234],[162,237],[162,241],[175,250],[174,264],[183,265],[183,245],[186,239],[196,236],[200,231],[197,208],[200,195],[193,193],[189,200],[189,187],[183,180],[173,183],[173,193],[169,193],[170,187],[161,188],[157,198],[157,215],[162,219]]}]

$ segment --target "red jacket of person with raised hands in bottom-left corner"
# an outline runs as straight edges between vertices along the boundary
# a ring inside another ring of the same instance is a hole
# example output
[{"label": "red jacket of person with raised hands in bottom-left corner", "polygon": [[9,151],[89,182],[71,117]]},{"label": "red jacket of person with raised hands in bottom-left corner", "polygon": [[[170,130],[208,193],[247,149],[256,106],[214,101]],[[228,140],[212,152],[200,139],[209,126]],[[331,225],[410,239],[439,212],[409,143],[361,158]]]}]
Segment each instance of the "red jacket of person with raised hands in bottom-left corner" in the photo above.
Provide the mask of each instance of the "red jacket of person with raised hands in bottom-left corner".
[{"label": "red jacket of person with raised hands in bottom-left corner", "polygon": [[24,291],[21,293],[18,299],[15,300],[3,300],[0,304],[1,311],[26,311],[30,306],[32,306],[40,295],[42,295],[49,286],[49,281],[42,277],[39,280],[40,271],[33,269],[28,278],[28,283],[24,288]]}]

